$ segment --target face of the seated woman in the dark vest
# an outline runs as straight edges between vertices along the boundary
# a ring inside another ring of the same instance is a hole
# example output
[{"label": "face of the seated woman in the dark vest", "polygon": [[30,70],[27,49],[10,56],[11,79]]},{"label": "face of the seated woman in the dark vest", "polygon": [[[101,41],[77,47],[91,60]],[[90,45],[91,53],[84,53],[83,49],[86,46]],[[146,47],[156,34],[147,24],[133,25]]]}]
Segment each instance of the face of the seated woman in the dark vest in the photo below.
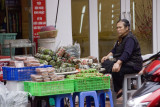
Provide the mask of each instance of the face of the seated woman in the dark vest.
[{"label": "face of the seated woman in the dark vest", "polygon": [[117,23],[117,33],[118,36],[124,35],[128,31],[128,27],[124,26],[124,22],[118,22]]}]

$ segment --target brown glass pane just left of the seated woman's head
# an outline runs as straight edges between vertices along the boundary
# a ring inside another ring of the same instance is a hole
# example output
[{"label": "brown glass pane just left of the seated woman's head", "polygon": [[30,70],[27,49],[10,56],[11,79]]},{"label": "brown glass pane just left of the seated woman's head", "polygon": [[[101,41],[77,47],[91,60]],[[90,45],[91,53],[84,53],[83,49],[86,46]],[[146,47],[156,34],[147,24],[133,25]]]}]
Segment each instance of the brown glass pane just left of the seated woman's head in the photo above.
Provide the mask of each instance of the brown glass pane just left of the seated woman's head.
[{"label": "brown glass pane just left of the seated woman's head", "polygon": [[107,55],[117,40],[116,24],[120,18],[120,1],[99,0],[98,26],[99,26],[99,59]]}]

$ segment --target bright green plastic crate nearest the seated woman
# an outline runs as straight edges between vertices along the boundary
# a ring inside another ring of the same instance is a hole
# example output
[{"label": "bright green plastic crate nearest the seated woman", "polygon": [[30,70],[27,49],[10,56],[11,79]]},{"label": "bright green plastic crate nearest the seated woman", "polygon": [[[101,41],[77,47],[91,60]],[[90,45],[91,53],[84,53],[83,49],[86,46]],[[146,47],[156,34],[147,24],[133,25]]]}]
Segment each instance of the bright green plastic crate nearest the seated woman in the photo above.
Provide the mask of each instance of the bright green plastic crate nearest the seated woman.
[{"label": "bright green plastic crate nearest the seated woman", "polygon": [[74,80],[75,92],[110,89],[110,77],[91,77]]}]

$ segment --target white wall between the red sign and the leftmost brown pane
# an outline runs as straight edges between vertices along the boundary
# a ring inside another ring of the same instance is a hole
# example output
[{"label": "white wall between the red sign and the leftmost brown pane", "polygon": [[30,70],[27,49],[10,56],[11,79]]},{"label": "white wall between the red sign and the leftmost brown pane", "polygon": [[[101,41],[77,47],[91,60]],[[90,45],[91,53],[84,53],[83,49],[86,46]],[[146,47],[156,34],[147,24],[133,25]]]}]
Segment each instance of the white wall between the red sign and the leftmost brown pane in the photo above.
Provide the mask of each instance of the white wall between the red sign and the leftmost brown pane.
[{"label": "white wall between the red sign and the leftmost brown pane", "polygon": [[[58,0],[46,0],[47,25],[55,25]],[[71,0],[60,0],[57,17],[56,46],[72,44]]]}]

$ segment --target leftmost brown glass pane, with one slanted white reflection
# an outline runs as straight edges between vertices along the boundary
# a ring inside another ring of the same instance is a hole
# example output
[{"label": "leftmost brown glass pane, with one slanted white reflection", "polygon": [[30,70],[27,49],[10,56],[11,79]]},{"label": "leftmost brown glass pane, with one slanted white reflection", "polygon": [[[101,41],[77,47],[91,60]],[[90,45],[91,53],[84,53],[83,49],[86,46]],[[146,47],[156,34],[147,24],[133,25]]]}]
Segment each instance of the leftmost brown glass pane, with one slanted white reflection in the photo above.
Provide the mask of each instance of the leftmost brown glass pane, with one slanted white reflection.
[{"label": "leftmost brown glass pane, with one slanted white reflection", "polygon": [[89,56],[89,2],[72,0],[72,36],[73,43],[80,43],[81,57]]}]

